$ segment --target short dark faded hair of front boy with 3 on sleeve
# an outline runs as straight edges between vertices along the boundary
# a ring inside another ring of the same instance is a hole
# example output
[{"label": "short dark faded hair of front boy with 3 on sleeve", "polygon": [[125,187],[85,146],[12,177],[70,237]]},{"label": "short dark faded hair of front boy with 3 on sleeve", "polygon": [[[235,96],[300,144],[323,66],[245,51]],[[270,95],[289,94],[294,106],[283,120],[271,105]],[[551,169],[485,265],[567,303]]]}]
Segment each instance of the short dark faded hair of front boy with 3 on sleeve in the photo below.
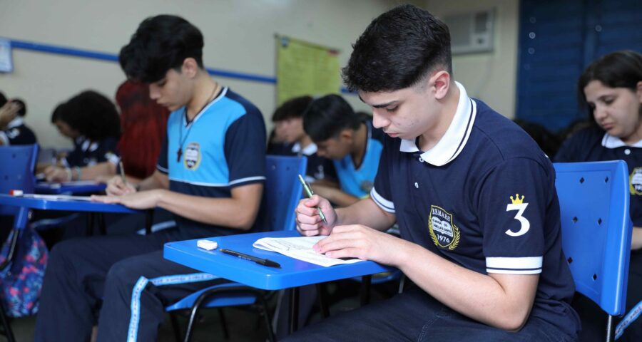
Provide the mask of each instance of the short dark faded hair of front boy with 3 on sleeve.
[{"label": "short dark faded hair of front boy with 3 on sleeve", "polygon": [[436,68],[452,73],[448,26],[405,4],[378,16],[353,45],[343,81],[352,90],[408,88]]}]

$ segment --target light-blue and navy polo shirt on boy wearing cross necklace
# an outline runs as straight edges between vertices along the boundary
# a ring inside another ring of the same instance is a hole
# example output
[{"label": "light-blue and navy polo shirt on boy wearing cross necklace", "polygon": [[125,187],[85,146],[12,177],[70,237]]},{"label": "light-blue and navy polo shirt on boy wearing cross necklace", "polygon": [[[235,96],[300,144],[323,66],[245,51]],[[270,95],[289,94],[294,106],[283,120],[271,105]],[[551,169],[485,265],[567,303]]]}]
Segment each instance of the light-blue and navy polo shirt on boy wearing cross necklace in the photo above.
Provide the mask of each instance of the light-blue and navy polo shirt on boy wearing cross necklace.
[{"label": "light-blue and navy polo shirt on boy wearing cross necklace", "polygon": [[[180,148],[180,157],[178,150]],[[170,114],[167,138],[156,168],[168,175],[170,190],[185,195],[229,198],[233,187],[265,182],[265,123],[258,108],[228,88],[190,123],[185,108]],[[175,215],[191,234],[233,234]]]}]

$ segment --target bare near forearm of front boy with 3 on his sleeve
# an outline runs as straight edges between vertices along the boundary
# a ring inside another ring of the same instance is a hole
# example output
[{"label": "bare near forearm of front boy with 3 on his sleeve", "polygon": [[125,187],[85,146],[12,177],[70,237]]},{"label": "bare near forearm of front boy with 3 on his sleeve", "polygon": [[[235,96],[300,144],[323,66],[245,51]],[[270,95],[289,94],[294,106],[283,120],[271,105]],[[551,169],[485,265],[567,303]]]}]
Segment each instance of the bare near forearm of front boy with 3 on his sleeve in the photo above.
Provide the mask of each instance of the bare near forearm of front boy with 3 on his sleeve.
[{"label": "bare near forearm of front boy with 3 on his sleeve", "polygon": [[515,286],[502,286],[492,276],[465,269],[412,242],[404,244],[399,249],[398,264],[393,266],[438,301],[469,318],[507,331],[519,330],[526,322],[533,306],[537,275],[511,275],[532,278],[520,279],[529,281],[532,294],[514,291]]}]

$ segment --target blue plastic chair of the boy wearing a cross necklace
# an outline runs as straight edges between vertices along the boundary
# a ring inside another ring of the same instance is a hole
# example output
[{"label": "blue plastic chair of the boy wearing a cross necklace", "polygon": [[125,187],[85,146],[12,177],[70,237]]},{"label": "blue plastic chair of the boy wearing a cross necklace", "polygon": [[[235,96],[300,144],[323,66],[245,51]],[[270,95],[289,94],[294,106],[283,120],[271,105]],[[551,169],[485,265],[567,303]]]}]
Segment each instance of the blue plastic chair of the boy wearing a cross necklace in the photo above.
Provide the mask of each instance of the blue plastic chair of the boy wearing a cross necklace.
[{"label": "blue plastic chair of the boy wearing a cross necklace", "polygon": [[[295,208],[301,198],[302,186],[297,180],[297,175],[305,175],[307,166],[306,157],[266,157],[266,179],[263,188],[263,199],[256,219],[257,231],[277,231],[295,229]],[[191,309],[190,320],[184,341],[190,341],[193,323],[198,315],[198,310],[204,308],[221,308],[223,306],[248,306],[259,303],[260,314],[265,317],[267,332],[270,341],[275,341],[270,317],[265,303],[265,291],[254,289],[238,283],[227,283],[210,286],[197,291],[173,305],[165,308],[166,311]],[[175,332],[178,326],[172,316]],[[223,322],[225,329],[225,322]],[[227,332],[225,331],[227,336]],[[180,338],[177,339],[180,340]]]}]

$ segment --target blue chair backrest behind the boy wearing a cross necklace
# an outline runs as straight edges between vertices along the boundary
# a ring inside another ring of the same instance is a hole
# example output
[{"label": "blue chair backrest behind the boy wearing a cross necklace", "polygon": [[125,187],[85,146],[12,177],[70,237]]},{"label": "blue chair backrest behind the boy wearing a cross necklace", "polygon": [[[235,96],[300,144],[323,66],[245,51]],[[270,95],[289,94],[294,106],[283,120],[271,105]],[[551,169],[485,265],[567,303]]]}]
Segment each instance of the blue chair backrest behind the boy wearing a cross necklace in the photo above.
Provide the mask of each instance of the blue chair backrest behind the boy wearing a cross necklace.
[{"label": "blue chair backrest behind the boy wearing a cross necklace", "polygon": [[265,188],[255,227],[260,232],[295,228],[295,208],[303,187],[298,175],[305,175],[306,157],[267,155]]}]

